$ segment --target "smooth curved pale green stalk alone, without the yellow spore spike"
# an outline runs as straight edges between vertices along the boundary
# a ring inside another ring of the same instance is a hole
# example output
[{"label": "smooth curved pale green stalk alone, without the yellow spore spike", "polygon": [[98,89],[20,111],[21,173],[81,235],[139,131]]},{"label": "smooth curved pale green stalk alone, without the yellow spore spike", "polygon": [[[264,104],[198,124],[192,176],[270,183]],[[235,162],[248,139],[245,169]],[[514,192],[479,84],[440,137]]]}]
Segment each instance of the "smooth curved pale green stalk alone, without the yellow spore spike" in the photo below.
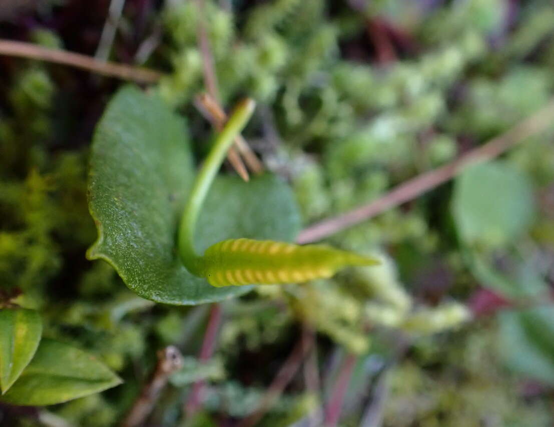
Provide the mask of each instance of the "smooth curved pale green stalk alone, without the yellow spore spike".
[{"label": "smooth curved pale green stalk alone, without the yellow spore spike", "polygon": [[235,107],[227,124],[217,136],[206,161],[202,164],[188,196],[179,224],[178,245],[182,263],[193,274],[198,274],[202,267],[201,257],[194,249],[194,229],[196,229],[198,215],[229,147],[233,144],[235,137],[246,126],[250,116],[252,116],[254,106],[255,102],[252,99],[245,99]]}]

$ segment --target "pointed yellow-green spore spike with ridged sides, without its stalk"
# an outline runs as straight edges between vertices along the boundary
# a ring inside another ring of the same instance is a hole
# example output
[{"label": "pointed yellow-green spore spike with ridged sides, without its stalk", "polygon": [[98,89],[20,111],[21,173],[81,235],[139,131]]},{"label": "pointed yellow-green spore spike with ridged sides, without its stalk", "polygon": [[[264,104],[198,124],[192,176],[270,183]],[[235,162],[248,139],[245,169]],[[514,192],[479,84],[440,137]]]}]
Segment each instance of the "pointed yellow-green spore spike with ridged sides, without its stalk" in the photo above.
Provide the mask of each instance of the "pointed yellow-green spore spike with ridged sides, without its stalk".
[{"label": "pointed yellow-green spore spike with ridged sides, without its stalk", "polygon": [[331,277],[349,265],[379,261],[327,245],[231,239],[210,246],[198,260],[199,275],[213,286],[300,283]]}]

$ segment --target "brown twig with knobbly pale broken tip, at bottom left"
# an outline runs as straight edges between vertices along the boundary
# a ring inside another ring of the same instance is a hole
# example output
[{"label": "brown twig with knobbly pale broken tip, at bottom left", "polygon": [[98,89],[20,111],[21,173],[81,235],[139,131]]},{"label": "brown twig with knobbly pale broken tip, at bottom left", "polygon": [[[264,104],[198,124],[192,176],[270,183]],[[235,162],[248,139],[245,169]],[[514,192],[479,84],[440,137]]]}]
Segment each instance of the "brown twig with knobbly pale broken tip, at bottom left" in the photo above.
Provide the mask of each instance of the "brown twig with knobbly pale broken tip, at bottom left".
[{"label": "brown twig with knobbly pale broken tip, at bottom left", "polygon": [[168,346],[158,351],[158,363],[152,378],[142,388],[139,398],[135,400],[131,410],[122,421],[122,427],[142,425],[156,404],[162,389],[166,386],[170,375],[183,366],[183,356],[174,346]]}]

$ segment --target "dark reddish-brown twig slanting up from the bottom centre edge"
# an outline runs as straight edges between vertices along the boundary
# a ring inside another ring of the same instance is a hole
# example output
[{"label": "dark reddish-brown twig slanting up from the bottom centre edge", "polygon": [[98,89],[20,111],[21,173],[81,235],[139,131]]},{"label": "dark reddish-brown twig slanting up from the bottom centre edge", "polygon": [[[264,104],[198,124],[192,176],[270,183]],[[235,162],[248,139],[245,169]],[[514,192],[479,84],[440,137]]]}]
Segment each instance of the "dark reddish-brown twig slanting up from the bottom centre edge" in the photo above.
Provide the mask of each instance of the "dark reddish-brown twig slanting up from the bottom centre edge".
[{"label": "dark reddish-brown twig slanting up from the bottom centre edge", "polygon": [[283,363],[283,366],[281,366],[281,369],[279,369],[277,375],[275,375],[275,378],[273,379],[273,382],[271,382],[267,392],[261,398],[258,408],[256,408],[252,414],[247,416],[247,418],[244,418],[238,424],[238,427],[251,427],[258,424],[258,421],[263,418],[268,409],[271,408],[277,399],[279,399],[286,386],[293,379],[294,375],[300,368],[302,361],[304,361],[306,354],[313,345],[314,336],[307,334],[305,330],[302,331],[302,337],[299,342],[296,343],[296,346],[286,359],[285,363]]}]

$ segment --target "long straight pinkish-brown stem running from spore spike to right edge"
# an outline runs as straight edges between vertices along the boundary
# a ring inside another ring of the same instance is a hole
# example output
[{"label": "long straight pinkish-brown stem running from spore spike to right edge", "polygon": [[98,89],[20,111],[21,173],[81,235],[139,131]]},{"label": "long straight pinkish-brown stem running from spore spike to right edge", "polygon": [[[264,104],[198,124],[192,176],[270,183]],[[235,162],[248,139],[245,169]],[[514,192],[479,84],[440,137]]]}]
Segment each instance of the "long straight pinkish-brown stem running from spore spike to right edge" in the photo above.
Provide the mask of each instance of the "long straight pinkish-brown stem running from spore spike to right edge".
[{"label": "long straight pinkish-brown stem running from spore spike to right edge", "polygon": [[546,128],[554,124],[554,120],[552,120],[553,117],[554,100],[551,100],[534,115],[519,122],[519,124],[510,128],[507,132],[502,133],[502,135],[493,138],[486,144],[474,148],[474,150],[458,157],[453,162],[445,164],[445,166],[434,169],[433,171],[422,173],[413,179],[409,179],[393,188],[392,191],[384,194],[384,196],[377,200],[373,200],[373,202],[345,214],[338,215],[338,217],[326,219],[320,223],[311,225],[301,231],[297,241],[303,244],[323,239],[338,231],[352,227],[352,225],[375,217],[375,215],[382,213],[384,210],[408,202],[408,200],[412,200],[428,192],[430,189],[439,186],[439,184],[449,181],[449,179],[452,179],[464,168],[472,164],[491,160],[504,153],[516,143],[522,142],[526,140],[526,138],[546,130]]}]

